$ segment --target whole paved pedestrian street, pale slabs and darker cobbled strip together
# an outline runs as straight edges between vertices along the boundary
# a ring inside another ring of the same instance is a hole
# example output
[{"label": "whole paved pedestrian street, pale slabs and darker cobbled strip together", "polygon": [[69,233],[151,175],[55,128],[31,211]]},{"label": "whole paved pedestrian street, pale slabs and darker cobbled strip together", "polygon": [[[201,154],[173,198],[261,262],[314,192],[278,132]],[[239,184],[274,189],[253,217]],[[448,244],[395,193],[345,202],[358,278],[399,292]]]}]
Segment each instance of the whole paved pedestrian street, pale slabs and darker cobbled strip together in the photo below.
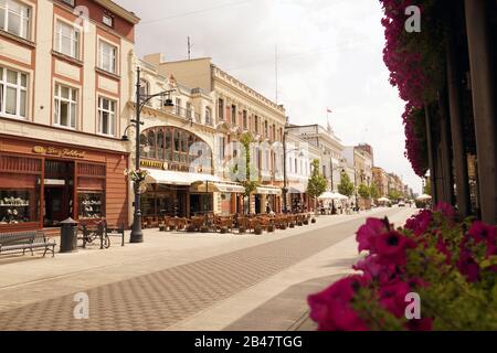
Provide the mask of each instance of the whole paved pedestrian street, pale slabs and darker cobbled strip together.
[{"label": "whole paved pedestrian street, pale slabs and darker cobbled strip together", "polygon": [[[414,212],[320,216],[314,225],[260,236],[146,229],[144,244],[123,248],[2,259],[0,330],[299,329],[310,293],[302,288],[319,286],[300,287],[289,300],[293,288],[350,271],[353,234],[366,217],[402,224]],[[78,292],[89,298],[88,319],[74,317]]]}]

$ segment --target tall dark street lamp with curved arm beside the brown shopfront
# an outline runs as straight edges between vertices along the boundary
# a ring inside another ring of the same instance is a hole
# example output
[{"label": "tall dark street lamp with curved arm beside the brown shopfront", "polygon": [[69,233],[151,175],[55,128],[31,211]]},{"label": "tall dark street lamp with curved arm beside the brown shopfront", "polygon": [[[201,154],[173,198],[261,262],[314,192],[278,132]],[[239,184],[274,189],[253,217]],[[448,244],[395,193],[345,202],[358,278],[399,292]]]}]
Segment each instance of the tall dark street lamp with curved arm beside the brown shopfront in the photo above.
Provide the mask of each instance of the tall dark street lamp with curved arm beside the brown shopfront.
[{"label": "tall dark street lamp with curved arm beside the brown shopfront", "polygon": [[[140,114],[144,107],[147,105],[147,103],[150,101],[150,99],[156,97],[166,97],[163,99],[163,106],[165,107],[172,107],[172,99],[171,99],[171,93],[176,90],[176,88],[168,89],[155,95],[147,95],[140,93],[140,68],[137,67],[136,69],[136,119],[131,120],[131,122],[135,125],[136,129],[136,146],[135,146],[135,168],[136,170],[140,169],[140,125],[144,122],[140,121]],[[123,136],[123,141],[128,141],[128,137],[126,135],[126,130],[131,127],[133,125],[129,125],[125,129],[125,133]],[[134,190],[135,190],[135,212],[133,214],[133,229],[131,235],[129,238],[129,243],[142,243],[144,242],[144,233],[141,232],[141,210],[140,210],[140,194],[139,194],[139,182],[134,182]]]}]

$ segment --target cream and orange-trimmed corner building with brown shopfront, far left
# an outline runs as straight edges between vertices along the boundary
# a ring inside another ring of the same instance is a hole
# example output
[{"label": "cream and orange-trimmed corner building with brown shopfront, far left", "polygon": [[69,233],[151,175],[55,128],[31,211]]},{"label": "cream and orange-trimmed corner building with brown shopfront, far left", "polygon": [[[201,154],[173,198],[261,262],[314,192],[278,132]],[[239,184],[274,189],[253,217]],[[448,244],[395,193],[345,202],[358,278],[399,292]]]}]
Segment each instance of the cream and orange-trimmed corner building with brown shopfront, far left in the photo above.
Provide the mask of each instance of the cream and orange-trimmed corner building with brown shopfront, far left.
[{"label": "cream and orange-trimmed corner building with brown shopfront, far left", "polygon": [[138,21],[108,0],[0,1],[0,232],[128,224],[120,135]]}]

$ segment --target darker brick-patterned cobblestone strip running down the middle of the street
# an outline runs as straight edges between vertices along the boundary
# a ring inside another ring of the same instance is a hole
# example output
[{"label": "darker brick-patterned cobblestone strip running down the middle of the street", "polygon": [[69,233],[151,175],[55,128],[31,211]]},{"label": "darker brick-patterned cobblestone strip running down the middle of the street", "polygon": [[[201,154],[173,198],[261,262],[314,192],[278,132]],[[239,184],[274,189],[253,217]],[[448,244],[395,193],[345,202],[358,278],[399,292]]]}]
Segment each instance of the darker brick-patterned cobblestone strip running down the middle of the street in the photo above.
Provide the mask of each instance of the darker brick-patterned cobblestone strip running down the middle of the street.
[{"label": "darker brick-patterned cobblestone strip running down the middle of the street", "polygon": [[3,311],[0,330],[166,330],[340,242],[362,223],[309,227],[293,237],[91,288],[88,320],[74,319],[73,295]]}]

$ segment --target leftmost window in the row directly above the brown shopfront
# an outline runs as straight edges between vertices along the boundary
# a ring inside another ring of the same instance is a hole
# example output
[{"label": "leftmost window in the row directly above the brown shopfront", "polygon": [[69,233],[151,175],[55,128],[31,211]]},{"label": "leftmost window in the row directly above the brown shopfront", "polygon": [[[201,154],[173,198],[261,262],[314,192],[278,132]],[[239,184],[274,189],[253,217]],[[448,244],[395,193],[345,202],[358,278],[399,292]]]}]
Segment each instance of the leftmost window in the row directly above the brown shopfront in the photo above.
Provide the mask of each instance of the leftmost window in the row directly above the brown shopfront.
[{"label": "leftmost window in the row directly above the brown shopfront", "polygon": [[27,117],[28,75],[0,67],[0,114]]}]

